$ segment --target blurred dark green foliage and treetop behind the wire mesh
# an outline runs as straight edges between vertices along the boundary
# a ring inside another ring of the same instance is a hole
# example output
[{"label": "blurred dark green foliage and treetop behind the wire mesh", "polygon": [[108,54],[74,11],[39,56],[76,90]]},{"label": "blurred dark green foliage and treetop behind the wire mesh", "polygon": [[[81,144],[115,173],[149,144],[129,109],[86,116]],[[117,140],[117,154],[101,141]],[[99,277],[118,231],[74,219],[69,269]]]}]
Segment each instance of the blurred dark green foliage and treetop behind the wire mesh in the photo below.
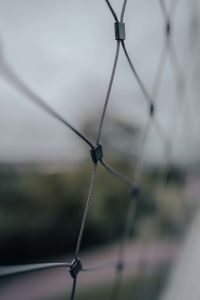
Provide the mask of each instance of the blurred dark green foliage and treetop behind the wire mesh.
[{"label": "blurred dark green foliage and treetop behind the wire mesh", "polygon": [[[92,120],[84,125],[90,136],[94,128]],[[138,138],[137,127],[119,120],[110,119],[104,129],[106,161],[130,178],[130,153]],[[74,251],[91,174],[92,164],[86,161],[54,173],[0,166],[0,263],[40,261]],[[183,231],[183,174],[178,168],[143,172],[133,237],[142,238],[144,232],[169,237]],[[127,187],[99,165],[83,248],[120,238],[130,199]]]}]

